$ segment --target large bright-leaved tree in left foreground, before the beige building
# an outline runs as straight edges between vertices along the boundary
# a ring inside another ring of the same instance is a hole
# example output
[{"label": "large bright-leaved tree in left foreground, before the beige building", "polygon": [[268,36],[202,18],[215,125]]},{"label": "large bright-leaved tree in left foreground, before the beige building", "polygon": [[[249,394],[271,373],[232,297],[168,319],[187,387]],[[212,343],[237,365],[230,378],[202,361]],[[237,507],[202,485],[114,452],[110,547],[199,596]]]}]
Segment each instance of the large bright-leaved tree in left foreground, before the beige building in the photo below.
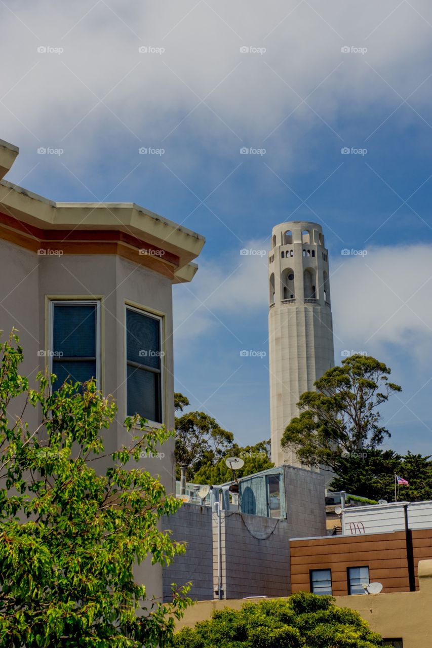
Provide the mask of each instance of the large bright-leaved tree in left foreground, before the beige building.
[{"label": "large bright-leaved tree in left foreground, before the beige building", "polygon": [[112,399],[94,382],[51,394],[44,375],[30,389],[22,360],[12,334],[0,344],[0,646],[169,645],[165,615],[181,616],[186,590],[162,605],[133,573],[147,557],[165,564],[184,551],[158,530],[179,502],[136,463],[169,433],[128,418],[130,445],[108,454],[101,432],[114,419]]}]

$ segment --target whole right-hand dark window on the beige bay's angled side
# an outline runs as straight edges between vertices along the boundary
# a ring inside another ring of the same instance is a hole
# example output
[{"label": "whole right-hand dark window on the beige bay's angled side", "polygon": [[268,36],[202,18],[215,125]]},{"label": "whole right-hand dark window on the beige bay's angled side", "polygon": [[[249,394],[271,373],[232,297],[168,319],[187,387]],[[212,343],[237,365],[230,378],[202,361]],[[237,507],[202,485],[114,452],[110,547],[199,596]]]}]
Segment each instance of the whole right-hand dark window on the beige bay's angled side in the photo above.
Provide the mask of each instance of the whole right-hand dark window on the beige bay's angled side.
[{"label": "whole right-hand dark window on the beige bay's angled side", "polygon": [[162,423],[161,321],[126,310],[127,414]]}]

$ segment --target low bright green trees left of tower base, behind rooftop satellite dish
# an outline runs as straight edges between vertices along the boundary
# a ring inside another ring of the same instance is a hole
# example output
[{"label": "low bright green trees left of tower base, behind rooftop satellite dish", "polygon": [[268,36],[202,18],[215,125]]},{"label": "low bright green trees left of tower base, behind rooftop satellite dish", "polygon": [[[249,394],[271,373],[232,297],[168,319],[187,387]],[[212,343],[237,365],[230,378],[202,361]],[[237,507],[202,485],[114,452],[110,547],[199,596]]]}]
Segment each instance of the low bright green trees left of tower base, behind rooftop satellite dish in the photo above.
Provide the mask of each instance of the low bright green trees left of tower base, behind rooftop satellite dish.
[{"label": "low bright green trees left of tower base, behind rooftop satellite dish", "polygon": [[[235,477],[245,477],[261,470],[274,467],[269,459],[270,442],[260,441],[253,446],[242,448],[234,443],[230,447],[230,456],[240,457],[245,462],[243,468],[235,470]],[[219,459],[217,463],[208,462],[202,465],[195,473],[194,480],[198,484],[222,484],[232,479],[232,470],[228,468],[225,459]]]}]

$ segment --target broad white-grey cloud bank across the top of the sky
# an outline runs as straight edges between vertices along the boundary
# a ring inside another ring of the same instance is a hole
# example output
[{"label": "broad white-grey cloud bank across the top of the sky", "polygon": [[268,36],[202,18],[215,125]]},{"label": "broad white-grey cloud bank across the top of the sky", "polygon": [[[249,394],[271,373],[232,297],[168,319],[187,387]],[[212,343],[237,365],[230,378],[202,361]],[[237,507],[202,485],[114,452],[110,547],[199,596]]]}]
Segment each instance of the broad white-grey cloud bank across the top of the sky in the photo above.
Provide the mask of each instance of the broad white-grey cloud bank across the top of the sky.
[{"label": "broad white-grey cloud bank across the top of the sky", "polygon": [[[194,167],[194,141],[232,154],[242,144],[261,145],[292,113],[288,140],[270,137],[267,148],[289,152],[286,162],[298,165],[311,124],[321,118],[338,131],[339,114],[368,110],[378,126],[402,102],[397,93],[407,97],[424,81],[431,6],[412,5],[77,0],[60,11],[53,0],[35,0],[14,13],[3,8],[1,137],[35,152],[38,140],[62,143],[68,163],[80,167],[106,151],[125,154],[122,140],[136,142],[137,151],[163,142],[173,162],[186,158]],[[142,45],[165,52],[139,54]],[[368,52],[342,54],[344,45]],[[64,52],[38,53],[40,46]],[[267,51],[241,54],[241,46]],[[420,113],[427,88],[409,99]],[[311,108],[302,104],[308,95]]]}]

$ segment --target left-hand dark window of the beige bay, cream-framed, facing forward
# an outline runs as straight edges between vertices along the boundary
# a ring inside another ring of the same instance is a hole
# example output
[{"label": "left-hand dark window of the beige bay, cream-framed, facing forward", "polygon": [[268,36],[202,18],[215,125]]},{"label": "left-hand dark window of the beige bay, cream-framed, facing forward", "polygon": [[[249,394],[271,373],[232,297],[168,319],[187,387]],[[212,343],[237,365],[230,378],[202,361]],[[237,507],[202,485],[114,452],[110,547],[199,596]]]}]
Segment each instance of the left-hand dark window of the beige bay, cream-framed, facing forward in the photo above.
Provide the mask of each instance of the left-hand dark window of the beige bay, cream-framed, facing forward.
[{"label": "left-hand dark window of the beige bay, cream-framed, facing forward", "polygon": [[54,390],[65,380],[99,378],[97,307],[96,302],[53,302],[53,348],[49,354],[57,376]]}]

